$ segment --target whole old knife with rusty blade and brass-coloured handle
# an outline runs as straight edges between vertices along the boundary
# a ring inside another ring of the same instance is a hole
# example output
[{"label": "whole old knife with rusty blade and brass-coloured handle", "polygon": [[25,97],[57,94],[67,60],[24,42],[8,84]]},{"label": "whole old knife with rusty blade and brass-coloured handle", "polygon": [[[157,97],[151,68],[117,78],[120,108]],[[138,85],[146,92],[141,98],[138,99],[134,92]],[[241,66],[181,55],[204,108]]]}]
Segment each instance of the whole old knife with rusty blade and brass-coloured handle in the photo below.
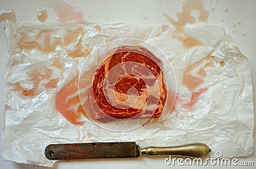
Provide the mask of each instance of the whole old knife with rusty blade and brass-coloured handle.
[{"label": "whole old knife with rusty blade and brass-coloured handle", "polygon": [[172,147],[144,147],[136,142],[62,143],[45,147],[47,159],[138,158],[141,154],[200,157],[211,152],[205,143]]}]

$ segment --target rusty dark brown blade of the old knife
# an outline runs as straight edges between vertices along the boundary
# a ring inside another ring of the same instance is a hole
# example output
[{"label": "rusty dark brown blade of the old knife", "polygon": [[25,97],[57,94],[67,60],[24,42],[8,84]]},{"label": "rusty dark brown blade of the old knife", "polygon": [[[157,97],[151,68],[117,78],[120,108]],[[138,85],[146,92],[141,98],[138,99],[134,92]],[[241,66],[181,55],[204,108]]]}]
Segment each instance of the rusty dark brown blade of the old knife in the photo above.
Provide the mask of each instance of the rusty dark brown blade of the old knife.
[{"label": "rusty dark brown blade of the old knife", "polygon": [[135,142],[63,143],[45,147],[47,159],[137,158]]}]

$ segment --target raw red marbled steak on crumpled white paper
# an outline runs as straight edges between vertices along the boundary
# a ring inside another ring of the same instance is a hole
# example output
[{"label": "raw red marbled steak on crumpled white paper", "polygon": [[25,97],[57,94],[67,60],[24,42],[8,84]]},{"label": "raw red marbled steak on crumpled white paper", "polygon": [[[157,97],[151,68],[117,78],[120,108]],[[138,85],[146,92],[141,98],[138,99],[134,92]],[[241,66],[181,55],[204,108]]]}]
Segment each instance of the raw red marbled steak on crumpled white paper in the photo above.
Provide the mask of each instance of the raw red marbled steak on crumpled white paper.
[{"label": "raw red marbled steak on crumpled white paper", "polygon": [[90,89],[94,118],[159,117],[166,100],[161,65],[143,47],[122,46],[108,52]]}]

